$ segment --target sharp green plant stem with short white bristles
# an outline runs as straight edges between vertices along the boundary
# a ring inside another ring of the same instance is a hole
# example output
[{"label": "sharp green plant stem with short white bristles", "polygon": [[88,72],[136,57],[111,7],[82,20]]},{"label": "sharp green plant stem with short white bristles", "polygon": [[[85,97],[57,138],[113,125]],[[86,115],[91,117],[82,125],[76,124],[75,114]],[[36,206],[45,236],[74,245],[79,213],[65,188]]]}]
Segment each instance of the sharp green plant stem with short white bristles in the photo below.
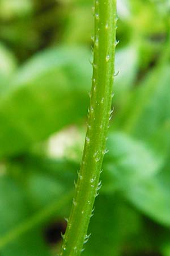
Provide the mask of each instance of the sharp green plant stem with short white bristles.
[{"label": "sharp green plant stem with short white bristles", "polygon": [[101,187],[100,173],[106,141],[114,80],[116,48],[116,0],[96,0],[94,61],[86,141],[73,206],[67,222],[60,256],[78,256],[87,242],[88,224],[95,197]]}]

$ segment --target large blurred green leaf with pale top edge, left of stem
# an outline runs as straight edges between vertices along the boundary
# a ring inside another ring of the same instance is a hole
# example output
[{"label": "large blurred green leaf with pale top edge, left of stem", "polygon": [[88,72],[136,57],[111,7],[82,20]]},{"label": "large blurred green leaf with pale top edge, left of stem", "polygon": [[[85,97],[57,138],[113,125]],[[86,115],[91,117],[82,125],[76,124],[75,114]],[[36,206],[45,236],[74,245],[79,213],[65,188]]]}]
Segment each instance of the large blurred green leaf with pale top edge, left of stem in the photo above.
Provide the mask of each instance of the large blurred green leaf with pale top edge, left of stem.
[{"label": "large blurred green leaf with pale top edge, left of stem", "polygon": [[91,66],[84,48],[60,47],[20,68],[0,103],[0,156],[31,144],[82,118],[87,112]]}]

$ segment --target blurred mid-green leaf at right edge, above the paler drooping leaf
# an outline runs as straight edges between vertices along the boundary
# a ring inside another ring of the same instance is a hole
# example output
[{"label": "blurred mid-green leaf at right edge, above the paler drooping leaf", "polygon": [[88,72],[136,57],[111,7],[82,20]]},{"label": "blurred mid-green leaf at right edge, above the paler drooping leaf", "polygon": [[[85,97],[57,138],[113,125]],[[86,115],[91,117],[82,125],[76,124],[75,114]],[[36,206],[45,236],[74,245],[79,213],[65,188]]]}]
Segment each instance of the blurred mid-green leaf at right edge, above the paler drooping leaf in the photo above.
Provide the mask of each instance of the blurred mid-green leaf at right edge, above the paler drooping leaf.
[{"label": "blurred mid-green leaf at right edge, above the paler drooping leaf", "polygon": [[119,127],[135,138],[152,144],[161,154],[170,145],[169,65],[156,67],[130,98]]}]

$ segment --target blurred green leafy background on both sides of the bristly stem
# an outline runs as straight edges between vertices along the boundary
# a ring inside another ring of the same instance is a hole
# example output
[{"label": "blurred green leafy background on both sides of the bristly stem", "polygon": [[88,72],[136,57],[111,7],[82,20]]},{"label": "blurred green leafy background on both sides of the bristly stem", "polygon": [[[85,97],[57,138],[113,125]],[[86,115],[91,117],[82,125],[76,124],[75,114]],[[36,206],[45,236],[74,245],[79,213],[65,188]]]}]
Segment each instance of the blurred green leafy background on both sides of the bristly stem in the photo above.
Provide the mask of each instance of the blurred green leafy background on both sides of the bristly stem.
[{"label": "blurred green leafy background on both sides of the bristly stem", "polygon": [[[90,0],[0,1],[0,255],[53,256],[91,86]],[[170,255],[170,5],[119,0],[114,115],[84,256]]]}]

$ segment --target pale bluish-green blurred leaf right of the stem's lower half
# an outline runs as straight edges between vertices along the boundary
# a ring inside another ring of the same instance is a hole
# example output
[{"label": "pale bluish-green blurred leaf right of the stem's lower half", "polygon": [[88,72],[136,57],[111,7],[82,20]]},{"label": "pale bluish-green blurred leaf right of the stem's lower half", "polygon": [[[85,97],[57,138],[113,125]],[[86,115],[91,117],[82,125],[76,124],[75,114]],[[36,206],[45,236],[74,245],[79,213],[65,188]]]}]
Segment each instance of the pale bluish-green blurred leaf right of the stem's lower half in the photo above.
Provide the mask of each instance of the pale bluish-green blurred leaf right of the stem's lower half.
[{"label": "pale bluish-green blurred leaf right of the stem's lower half", "polygon": [[105,183],[110,182],[108,190],[113,186],[115,191],[116,187],[135,207],[170,226],[170,184],[164,181],[161,155],[125,134],[111,135],[108,148],[104,163]]}]

